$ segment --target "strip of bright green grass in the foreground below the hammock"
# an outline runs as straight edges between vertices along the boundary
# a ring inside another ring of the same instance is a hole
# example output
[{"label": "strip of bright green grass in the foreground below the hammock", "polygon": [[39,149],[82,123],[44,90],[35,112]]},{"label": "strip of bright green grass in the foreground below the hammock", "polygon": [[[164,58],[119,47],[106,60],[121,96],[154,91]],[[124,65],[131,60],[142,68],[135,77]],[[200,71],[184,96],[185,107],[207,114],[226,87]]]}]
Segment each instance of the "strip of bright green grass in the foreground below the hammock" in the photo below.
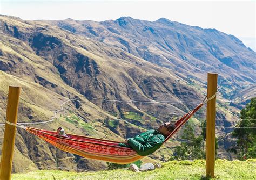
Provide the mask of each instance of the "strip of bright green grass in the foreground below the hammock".
[{"label": "strip of bright green grass in the foreground below the hammock", "polygon": [[[13,174],[12,179],[205,179],[205,160],[169,161],[153,171],[135,173],[127,169],[98,172],[57,170]],[[256,179],[256,159],[215,161],[214,179]]]}]

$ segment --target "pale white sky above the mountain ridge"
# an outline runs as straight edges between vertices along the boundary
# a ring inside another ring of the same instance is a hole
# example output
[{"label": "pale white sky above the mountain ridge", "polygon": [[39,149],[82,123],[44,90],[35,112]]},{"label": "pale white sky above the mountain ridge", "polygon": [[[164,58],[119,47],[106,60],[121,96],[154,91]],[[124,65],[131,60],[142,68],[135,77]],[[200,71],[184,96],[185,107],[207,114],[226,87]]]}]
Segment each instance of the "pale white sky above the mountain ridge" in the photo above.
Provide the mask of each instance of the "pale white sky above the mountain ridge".
[{"label": "pale white sky above the mountain ridge", "polygon": [[256,51],[256,1],[82,1],[0,0],[0,14],[24,20],[49,19],[103,21],[130,16],[154,21],[167,18],[179,23],[216,28],[235,35]]}]

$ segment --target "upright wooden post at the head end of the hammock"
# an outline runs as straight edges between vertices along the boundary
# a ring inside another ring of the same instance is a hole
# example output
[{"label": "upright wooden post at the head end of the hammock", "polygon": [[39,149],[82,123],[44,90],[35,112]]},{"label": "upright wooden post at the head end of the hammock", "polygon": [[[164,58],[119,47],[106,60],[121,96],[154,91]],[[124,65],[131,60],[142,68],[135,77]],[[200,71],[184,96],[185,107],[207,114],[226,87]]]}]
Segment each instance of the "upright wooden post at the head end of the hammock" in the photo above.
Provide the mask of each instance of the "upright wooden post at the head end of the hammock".
[{"label": "upright wooden post at the head end of the hammock", "polygon": [[[218,74],[208,73],[207,99],[217,92]],[[206,119],[206,177],[214,177],[215,168],[216,97],[207,102]]]}]

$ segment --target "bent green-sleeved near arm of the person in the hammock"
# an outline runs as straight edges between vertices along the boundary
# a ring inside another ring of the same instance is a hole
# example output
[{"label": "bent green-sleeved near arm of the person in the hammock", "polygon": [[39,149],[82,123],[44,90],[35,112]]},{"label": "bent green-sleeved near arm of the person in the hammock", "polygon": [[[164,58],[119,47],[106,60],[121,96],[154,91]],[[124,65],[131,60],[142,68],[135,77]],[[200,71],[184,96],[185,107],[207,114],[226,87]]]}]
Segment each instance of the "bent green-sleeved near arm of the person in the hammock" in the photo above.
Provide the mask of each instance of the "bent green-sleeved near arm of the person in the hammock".
[{"label": "bent green-sleeved near arm of the person in the hammock", "polygon": [[141,155],[141,156],[146,156],[149,155],[153,152],[155,152],[157,149],[160,148],[162,145],[163,140],[160,140],[157,136],[153,136],[149,142],[146,142],[145,145],[142,143],[134,140],[134,139],[129,139],[128,144],[136,150],[136,152]]}]

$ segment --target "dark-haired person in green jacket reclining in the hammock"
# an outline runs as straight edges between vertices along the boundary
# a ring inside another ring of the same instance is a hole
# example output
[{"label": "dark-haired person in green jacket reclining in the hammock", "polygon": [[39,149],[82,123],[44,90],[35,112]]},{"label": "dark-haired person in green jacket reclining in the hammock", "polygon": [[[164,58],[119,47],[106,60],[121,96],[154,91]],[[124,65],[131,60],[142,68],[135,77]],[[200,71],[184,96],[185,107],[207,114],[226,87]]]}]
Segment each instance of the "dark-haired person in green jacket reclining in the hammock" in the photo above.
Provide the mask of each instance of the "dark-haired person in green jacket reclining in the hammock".
[{"label": "dark-haired person in green jacket reclining in the hammock", "polygon": [[128,138],[123,143],[119,143],[118,146],[129,147],[141,155],[146,156],[157,149],[163,144],[165,138],[176,128],[172,123],[164,123],[160,125],[157,129],[151,129],[134,138]]}]

